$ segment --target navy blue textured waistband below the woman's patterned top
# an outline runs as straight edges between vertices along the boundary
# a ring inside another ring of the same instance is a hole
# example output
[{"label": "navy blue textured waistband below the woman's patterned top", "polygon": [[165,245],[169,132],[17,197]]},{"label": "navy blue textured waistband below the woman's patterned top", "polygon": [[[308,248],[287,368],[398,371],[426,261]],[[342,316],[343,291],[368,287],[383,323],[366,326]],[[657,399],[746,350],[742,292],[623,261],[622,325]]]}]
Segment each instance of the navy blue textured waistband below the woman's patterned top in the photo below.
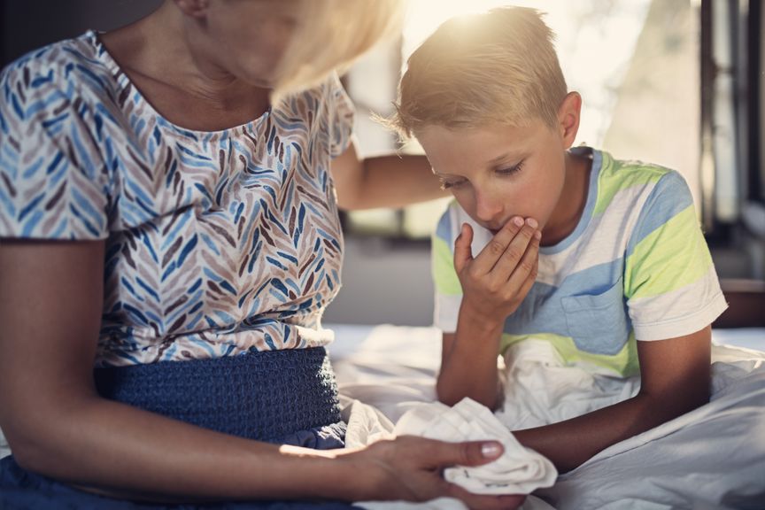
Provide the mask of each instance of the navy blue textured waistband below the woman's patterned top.
[{"label": "navy blue textured waistband below the woman's patterned top", "polygon": [[340,421],[323,347],[97,368],[94,377],[104,398],[259,441]]}]

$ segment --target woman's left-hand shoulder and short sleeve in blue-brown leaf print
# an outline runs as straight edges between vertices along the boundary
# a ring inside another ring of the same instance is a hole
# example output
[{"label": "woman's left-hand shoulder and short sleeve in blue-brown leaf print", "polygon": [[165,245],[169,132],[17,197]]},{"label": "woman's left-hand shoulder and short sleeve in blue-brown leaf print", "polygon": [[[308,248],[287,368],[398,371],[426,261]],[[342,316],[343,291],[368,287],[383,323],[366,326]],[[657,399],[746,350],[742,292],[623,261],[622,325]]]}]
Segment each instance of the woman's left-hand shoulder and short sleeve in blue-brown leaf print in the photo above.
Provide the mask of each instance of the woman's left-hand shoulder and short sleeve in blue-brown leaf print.
[{"label": "woman's left-hand shoulder and short sleeve in blue-brown leaf print", "polygon": [[112,174],[98,110],[111,94],[92,33],[0,73],[0,236],[106,236]]}]

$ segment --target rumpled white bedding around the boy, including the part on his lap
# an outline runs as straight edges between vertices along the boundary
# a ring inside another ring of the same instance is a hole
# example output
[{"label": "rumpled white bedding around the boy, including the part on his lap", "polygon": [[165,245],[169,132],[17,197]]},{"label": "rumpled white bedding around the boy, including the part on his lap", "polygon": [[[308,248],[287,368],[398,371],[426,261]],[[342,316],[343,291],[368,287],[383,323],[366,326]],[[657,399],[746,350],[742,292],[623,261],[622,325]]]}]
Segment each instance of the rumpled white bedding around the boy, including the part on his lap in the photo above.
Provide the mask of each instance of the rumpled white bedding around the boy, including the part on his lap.
[{"label": "rumpled white bedding around the boy, including the part on his lap", "polygon": [[[765,345],[765,331],[749,333],[750,340],[755,335],[752,344]],[[716,342],[724,335],[713,332]],[[339,328],[337,337],[330,357],[344,395],[377,407],[393,422],[435,399],[437,329]],[[560,510],[765,508],[765,353],[715,345],[713,361],[714,396],[707,406],[614,444],[535,495]],[[514,378],[497,413],[509,429],[560,421],[638,391],[637,379],[563,367],[553,350],[537,343],[508,352],[503,375]],[[527,506],[537,504],[543,503],[532,497]],[[464,508],[442,500],[368,507]]]}]

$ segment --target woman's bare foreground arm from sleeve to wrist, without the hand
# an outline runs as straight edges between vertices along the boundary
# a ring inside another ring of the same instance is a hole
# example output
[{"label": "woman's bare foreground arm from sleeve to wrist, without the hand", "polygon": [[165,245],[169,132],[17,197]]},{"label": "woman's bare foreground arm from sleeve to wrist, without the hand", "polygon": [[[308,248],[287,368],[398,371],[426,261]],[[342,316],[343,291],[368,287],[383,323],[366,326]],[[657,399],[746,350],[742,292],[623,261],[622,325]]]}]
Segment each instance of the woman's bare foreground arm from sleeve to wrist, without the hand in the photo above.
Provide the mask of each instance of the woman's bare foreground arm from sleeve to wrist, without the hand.
[{"label": "woman's bare foreground arm from sleeve to wrist, without the hand", "polygon": [[[333,496],[337,470],[316,483],[326,460],[298,462],[274,445],[98,397],[104,242],[3,241],[0,274],[0,420],[22,467],[147,498]],[[259,469],[264,459],[269,468]],[[290,478],[301,472],[306,484],[296,487]]]}]

